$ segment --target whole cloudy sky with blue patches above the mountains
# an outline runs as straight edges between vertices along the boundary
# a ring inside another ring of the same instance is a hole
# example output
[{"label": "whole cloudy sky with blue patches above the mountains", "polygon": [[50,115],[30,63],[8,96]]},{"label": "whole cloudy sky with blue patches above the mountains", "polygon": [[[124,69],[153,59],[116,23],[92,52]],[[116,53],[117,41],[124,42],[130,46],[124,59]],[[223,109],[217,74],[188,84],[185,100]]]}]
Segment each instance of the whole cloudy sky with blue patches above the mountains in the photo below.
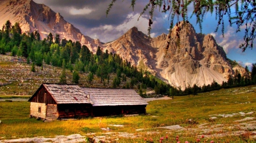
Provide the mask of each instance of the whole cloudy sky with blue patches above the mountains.
[{"label": "whole cloudy sky with blue patches above the mountains", "polygon": [[[131,1],[119,0],[106,16],[106,10],[112,0],[34,0],[36,3],[43,3],[49,6],[53,11],[59,12],[66,21],[80,29],[82,34],[91,38],[98,38],[101,42],[114,41],[126,33],[130,28],[137,27],[139,31],[147,34],[148,12],[145,12],[139,18],[147,0],[137,0],[133,8],[130,6]],[[188,8],[188,11],[192,8]],[[155,10],[153,24],[151,25],[151,37],[156,37],[162,33],[168,33],[170,27],[168,13],[164,14]],[[139,20],[138,20],[139,18]],[[189,19],[189,23],[193,25],[196,33],[200,33],[199,25],[196,24],[195,18]],[[215,15],[207,14],[203,21],[202,33],[212,34],[218,45],[222,46],[229,59],[236,60],[243,67],[248,66],[249,70],[252,63],[256,63],[256,42],[253,49],[246,49],[242,52],[238,46],[243,41],[244,29],[236,32],[236,27],[230,27],[228,20],[224,23],[224,37],[219,30],[214,32],[217,27]],[[221,28],[219,28],[221,29]]]}]

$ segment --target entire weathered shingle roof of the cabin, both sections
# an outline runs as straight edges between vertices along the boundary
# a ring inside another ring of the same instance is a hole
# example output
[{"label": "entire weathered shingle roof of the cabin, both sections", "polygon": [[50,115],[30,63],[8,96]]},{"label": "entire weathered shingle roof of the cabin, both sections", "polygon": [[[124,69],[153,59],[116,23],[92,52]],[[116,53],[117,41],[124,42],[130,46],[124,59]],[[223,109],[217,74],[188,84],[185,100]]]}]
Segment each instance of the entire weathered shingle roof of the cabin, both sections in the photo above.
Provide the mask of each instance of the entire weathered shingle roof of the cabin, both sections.
[{"label": "entire weathered shingle roof of the cabin, both sections", "polygon": [[[83,88],[75,84],[49,83],[43,83],[40,88],[43,86],[57,104],[90,103],[93,106],[148,105],[133,89]],[[31,101],[36,96],[38,90],[28,101]]]}]

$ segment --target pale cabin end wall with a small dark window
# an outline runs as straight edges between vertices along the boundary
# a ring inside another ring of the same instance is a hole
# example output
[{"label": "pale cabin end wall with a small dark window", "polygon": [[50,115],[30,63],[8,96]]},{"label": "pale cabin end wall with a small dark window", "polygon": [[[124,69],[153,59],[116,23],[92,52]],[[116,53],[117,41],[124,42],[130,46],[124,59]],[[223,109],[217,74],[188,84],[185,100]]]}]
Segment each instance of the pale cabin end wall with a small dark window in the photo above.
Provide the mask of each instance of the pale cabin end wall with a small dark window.
[{"label": "pale cabin end wall with a small dark window", "polygon": [[[40,111],[39,111],[40,108]],[[46,118],[46,111],[47,106],[45,103],[36,103],[36,102],[30,102],[30,115],[39,117],[39,118]]]}]

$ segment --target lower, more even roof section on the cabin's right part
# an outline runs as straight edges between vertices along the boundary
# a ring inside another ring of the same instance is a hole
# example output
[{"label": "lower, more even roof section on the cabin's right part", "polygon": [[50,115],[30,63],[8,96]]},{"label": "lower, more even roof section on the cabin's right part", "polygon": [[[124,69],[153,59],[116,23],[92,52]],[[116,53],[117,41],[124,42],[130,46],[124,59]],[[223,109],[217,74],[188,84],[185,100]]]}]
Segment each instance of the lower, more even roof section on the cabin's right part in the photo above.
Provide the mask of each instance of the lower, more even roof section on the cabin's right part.
[{"label": "lower, more even roof section on the cabin's right part", "polygon": [[93,106],[148,105],[133,89],[82,88]]}]

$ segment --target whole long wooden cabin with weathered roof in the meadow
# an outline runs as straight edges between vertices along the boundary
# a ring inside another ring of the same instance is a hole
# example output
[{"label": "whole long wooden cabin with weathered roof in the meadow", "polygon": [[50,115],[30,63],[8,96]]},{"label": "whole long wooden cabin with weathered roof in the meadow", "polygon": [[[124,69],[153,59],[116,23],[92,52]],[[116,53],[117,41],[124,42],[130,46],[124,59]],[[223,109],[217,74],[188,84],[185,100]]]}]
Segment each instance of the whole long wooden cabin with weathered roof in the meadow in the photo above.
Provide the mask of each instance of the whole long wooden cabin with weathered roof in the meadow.
[{"label": "whole long wooden cabin with weathered roof in the meadow", "polygon": [[83,88],[42,84],[30,102],[30,116],[42,119],[145,114],[147,102],[133,89]]}]

